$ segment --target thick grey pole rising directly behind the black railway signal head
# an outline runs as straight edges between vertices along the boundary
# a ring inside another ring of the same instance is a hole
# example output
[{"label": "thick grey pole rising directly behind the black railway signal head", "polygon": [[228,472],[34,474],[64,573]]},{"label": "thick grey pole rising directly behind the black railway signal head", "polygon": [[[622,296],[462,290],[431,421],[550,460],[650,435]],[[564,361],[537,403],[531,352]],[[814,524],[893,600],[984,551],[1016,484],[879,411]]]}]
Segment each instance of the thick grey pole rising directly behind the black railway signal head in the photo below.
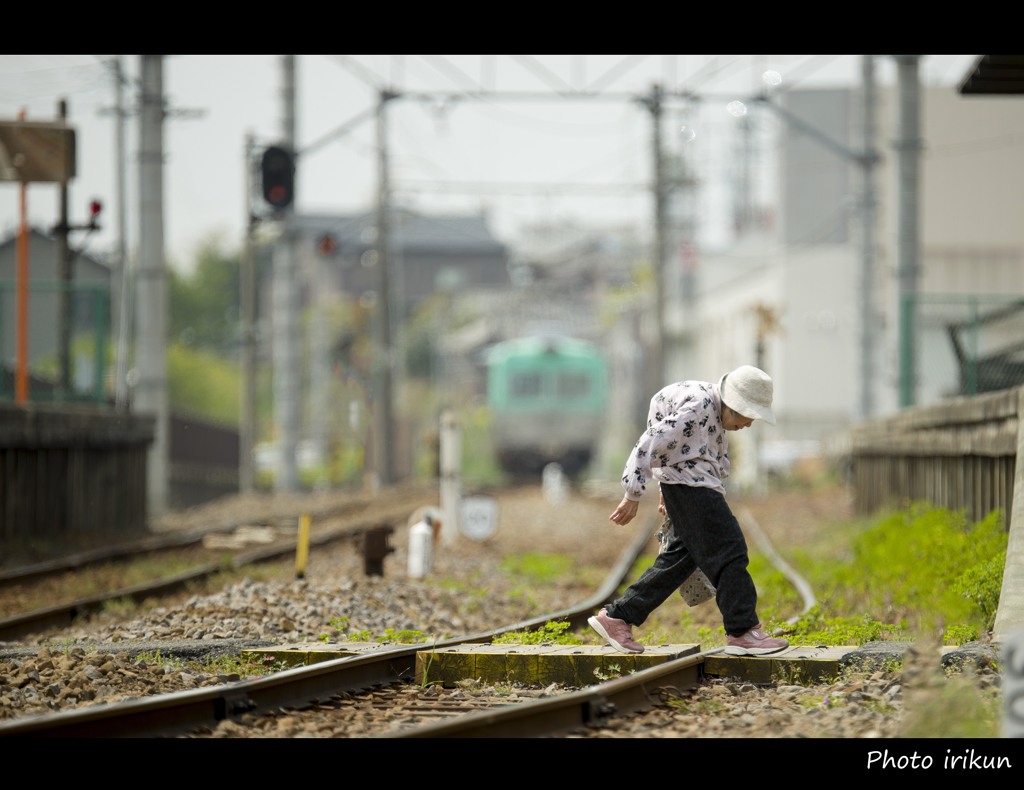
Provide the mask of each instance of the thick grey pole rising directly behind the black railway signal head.
[{"label": "thick grey pole rising directly behind the black railway signal head", "polygon": [[[295,151],[295,55],[282,55],[282,144]],[[281,234],[273,250],[273,408],[278,427],[274,488],[299,488],[296,452],[299,432],[298,284],[294,206],[278,210]]]}]

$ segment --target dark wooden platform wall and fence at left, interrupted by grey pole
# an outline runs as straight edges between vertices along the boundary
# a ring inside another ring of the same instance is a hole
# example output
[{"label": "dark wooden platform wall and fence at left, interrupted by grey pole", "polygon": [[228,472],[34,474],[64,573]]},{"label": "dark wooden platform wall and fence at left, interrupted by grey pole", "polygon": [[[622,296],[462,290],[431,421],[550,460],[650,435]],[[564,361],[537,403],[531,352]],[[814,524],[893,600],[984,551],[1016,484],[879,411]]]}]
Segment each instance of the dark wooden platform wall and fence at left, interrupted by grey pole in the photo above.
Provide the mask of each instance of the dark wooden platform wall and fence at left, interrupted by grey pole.
[{"label": "dark wooden platform wall and fence at left, interrupted by grey pole", "polygon": [[[0,402],[0,545],[147,530],[156,418],[110,406]],[[169,507],[239,491],[237,430],[169,417]]]}]

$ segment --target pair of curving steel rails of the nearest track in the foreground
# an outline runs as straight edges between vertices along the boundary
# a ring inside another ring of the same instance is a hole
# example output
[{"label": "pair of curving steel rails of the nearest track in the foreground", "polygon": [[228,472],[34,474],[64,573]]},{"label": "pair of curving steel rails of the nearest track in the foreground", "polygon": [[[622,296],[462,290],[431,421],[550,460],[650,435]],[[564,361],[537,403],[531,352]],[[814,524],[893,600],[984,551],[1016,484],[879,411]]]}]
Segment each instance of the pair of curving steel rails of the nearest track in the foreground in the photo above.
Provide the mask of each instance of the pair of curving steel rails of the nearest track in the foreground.
[{"label": "pair of curving steel rails of the nearest track in the foreground", "polygon": [[[546,613],[490,631],[432,642],[432,647],[487,642],[512,631],[540,628],[553,620],[568,621],[573,628],[583,627],[594,608],[606,599],[630,573],[637,557],[648,546],[652,534],[653,525],[649,531],[641,530],[637,533],[600,589],[590,599],[569,609]],[[416,654],[422,648],[422,645],[385,645],[369,654],[297,667],[212,689],[49,715],[26,716],[0,724],[0,738],[204,737],[215,732],[221,722],[228,720],[246,722],[247,727],[258,732],[261,716],[272,718],[282,715],[283,711],[301,711],[313,707],[323,712],[332,704],[343,707],[345,700],[351,700],[352,695],[403,695],[409,701],[413,699],[415,691],[416,697],[422,695],[429,700],[435,693],[431,693],[429,689],[417,689],[413,682]],[[697,679],[696,665],[692,660],[674,662],[674,666],[658,668],[656,676],[663,682],[680,688],[692,684]],[[392,725],[378,735],[414,738],[419,733],[423,737],[461,737],[467,733],[505,734],[507,729],[512,729],[519,735],[527,732],[535,735],[551,734],[566,725],[584,725],[595,716],[607,716],[615,710],[629,710],[649,701],[649,692],[644,683],[653,679],[655,678],[651,675],[637,673],[636,676],[617,678],[591,690],[582,690],[579,696],[559,695],[552,699],[532,701],[529,705],[510,705],[507,695],[490,694],[486,699],[477,698],[469,712],[465,707],[457,709],[459,715],[455,718],[446,717],[441,723],[435,720],[434,715],[428,723]],[[332,703],[333,700],[337,702]],[[420,702],[417,700],[417,703]],[[486,721],[475,718],[479,715],[485,715]],[[423,716],[413,718],[422,719]],[[393,721],[393,712],[389,720]],[[424,731],[420,727],[433,730]]]}]

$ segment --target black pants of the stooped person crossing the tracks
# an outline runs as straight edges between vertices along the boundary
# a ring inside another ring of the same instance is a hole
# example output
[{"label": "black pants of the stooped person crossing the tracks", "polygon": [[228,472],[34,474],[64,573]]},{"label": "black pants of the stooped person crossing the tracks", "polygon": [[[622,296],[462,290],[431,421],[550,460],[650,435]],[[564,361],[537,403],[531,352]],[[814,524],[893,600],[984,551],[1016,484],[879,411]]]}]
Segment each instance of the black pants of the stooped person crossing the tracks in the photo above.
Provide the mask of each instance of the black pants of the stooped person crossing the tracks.
[{"label": "black pants of the stooped person crossing the tracks", "polygon": [[691,486],[662,486],[673,531],[654,564],[610,606],[609,617],[641,625],[694,570],[715,585],[725,632],[739,636],[760,621],[758,593],[746,570],[746,540],[725,497]]}]

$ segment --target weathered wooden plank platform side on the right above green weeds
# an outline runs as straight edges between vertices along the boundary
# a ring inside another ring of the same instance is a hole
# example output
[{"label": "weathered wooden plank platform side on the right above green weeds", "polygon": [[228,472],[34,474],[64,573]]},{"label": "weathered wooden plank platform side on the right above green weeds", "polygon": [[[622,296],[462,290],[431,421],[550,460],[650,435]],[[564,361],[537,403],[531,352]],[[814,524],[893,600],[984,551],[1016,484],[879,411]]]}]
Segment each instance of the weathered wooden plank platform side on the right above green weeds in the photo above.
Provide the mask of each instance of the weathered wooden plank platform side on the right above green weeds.
[{"label": "weathered wooden plank platform side on the right above green weeds", "polygon": [[1022,388],[951,399],[852,431],[857,512],[925,500],[980,521],[1013,512]]}]

